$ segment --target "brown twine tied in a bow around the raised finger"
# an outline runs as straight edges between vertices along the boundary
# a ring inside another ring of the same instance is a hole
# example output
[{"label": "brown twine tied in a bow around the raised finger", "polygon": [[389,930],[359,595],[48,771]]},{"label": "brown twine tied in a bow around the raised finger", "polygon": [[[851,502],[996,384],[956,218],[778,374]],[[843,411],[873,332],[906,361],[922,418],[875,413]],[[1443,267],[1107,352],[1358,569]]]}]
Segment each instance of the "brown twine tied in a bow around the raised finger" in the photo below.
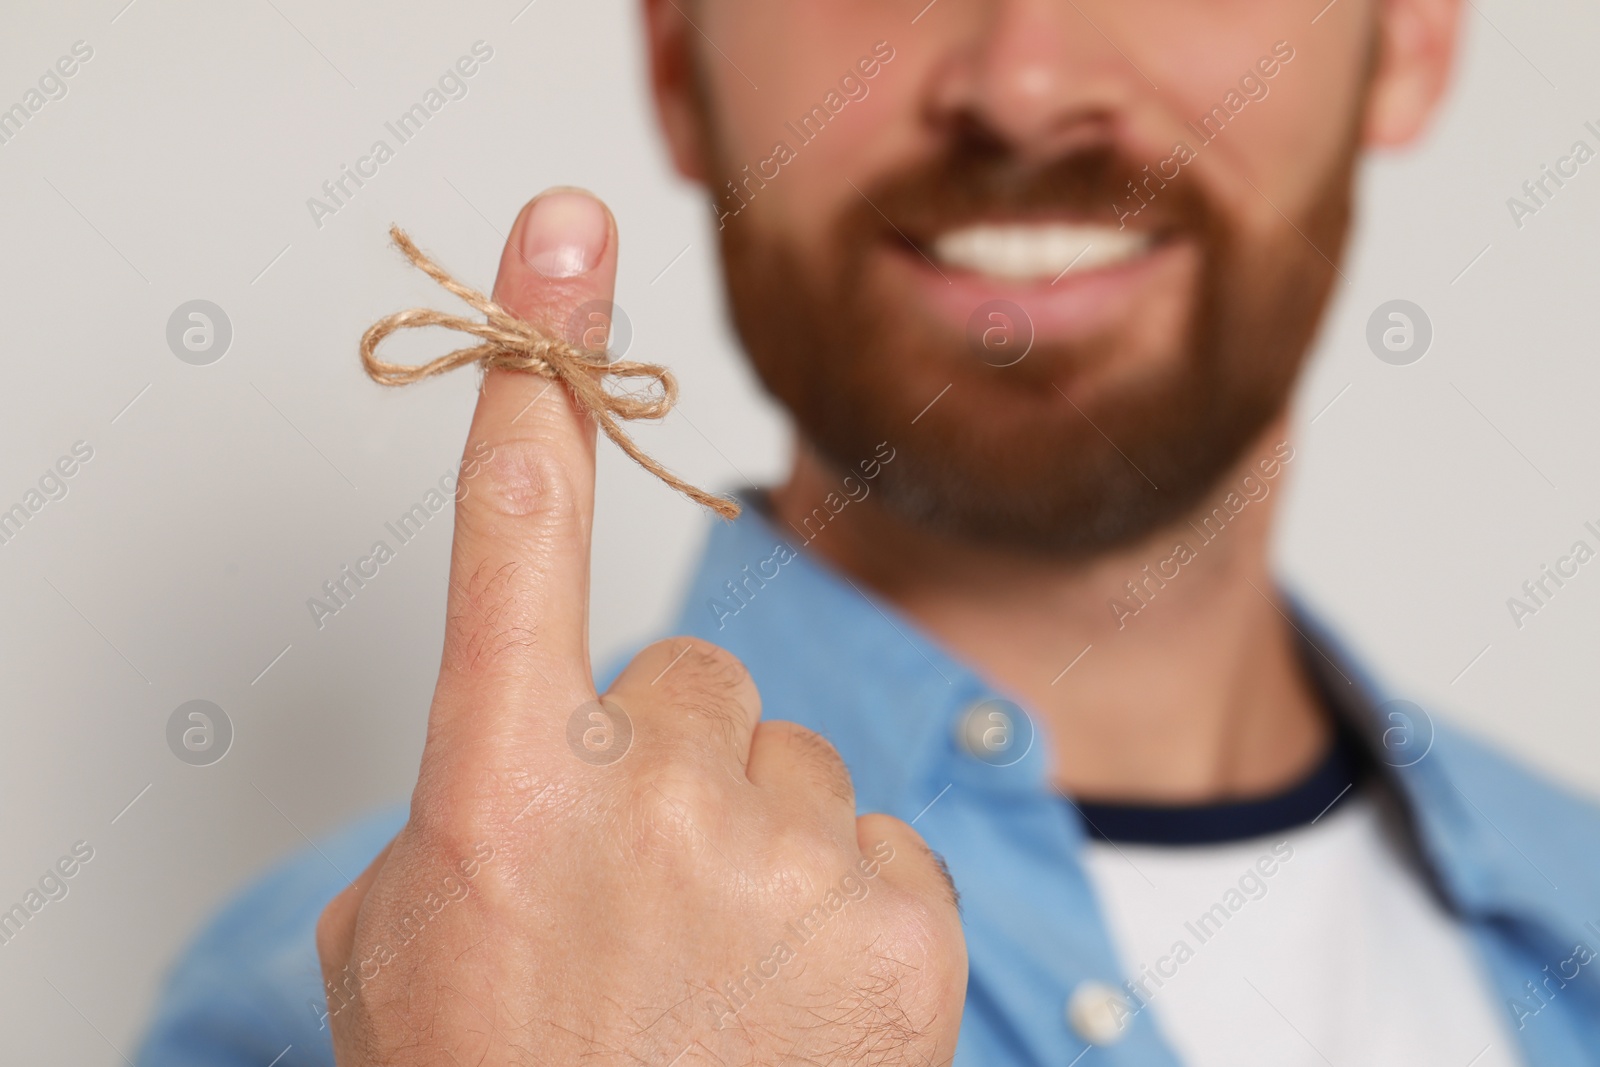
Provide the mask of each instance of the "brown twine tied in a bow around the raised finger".
[{"label": "brown twine tied in a bow around the raised finger", "polygon": [[[389,227],[389,237],[405,253],[406,259],[411,261],[411,266],[482,312],[485,322],[461,315],[446,315],[430,307],[413,307],[379,318],[362,334],[362,365],[373,381],[381,386],[410,386],[411,382],[445,374],[469,363],[482,363],[485,368],[499,366],[514,371],[533,371],[534,374],[560,381],[573,390],[578,406],[587,411],[600,424],[600,429],[605,430],[605,435],[611,438],[611,443],[627,453],[634,462],[696,504],[709,507],[723,518],[738,518],[738,504],[725,496],[714,496],[677,477],[646,456],[618,424],[618,419],[659,419],[672,410],[672,405],[678,398],[678,382],[667,368],[656,363],[632,363],[626,360],[613,363],[605,352],[594,352],[552,338],[538,326],[512,315],[477,290],[456,282],[450,277],[450,272],[422,254],[422,250],[398,226]],[[389,363],[378,358],[378,346],[382,344],[384,338],[400,330],[419,330],[422,326],[459,330],[461,333],[482,338],[483,342],[467,349],[456,349],[450,355],[442,355],[437,360],[429,360],[416,366]],[[648,390],[643,395],[614,394],[605,387],[605,379],[608,378],[646,378],[659,387],[659,392]]]}]

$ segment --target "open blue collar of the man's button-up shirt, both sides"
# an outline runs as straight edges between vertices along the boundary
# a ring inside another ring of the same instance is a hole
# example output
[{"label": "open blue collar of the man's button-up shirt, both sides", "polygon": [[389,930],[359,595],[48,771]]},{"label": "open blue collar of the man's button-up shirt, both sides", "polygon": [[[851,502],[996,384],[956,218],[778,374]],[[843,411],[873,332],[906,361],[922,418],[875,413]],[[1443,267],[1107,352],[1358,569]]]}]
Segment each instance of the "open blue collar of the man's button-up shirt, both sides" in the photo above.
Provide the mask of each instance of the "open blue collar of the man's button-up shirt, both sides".
[{"label": "open blue collar of the man's button-up shirt, both sides", "polygon": [[[746,504],[739,520],[712,528],[678,630],[739,656],[768,715],[829,737],[856,773],[862,811],[914,821],[957,785],[1002,800],[1053,792],[1030,721],[1022,728],[1032,736],[1005,766],[974,760],[957,739],[979,702],[1021,701],[830,568],[802,534],[779,530],[758,496]],[[1507,830],[1458,785],[1459,734],[1362,669],[1299,597],[1285,598],[1307,670],[1365,741],[1437,893],[1458,913],[1539,913],[1554,883],[1531,861],[1512,861]],[[1077,833],[1082,843],[1082,827]]]}]

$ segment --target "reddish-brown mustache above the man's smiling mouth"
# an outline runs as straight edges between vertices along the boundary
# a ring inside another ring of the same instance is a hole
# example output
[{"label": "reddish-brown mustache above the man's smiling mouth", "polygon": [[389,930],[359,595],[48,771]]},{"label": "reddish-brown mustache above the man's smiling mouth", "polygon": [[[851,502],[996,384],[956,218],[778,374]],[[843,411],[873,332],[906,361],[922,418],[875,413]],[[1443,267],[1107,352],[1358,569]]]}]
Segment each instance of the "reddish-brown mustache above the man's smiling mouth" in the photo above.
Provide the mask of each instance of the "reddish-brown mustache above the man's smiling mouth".
[{"label": "reddish-brown mustache above the man's smiling mouth", "polygon": [[[851,235],[893,227],[914,243],[957,226],[1016,218],[1064,218],[1141,230],[1216,232],[1219,213],[1194,176],[1162,176],[1102,139],[1037,162],[992,136],[954,136],[933,158],[872,182],[851,210]],[[1131,218],[1131,213],[1138,218]]]}]

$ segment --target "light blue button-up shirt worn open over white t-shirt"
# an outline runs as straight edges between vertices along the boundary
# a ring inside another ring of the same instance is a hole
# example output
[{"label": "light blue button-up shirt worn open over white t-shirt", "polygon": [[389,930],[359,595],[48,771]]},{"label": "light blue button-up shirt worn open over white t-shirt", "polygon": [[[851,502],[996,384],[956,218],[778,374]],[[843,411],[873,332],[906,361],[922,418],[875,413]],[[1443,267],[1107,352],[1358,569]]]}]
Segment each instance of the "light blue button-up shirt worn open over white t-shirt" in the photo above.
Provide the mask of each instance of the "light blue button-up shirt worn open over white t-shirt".
[{"label": "light blue button-up shirt worn open over white t-shirt", "polygon": [[[955,1062],[1178,1064],[1155,1013],[1104,1046],[1067,1022],[1082,982],[1126,976],[1080,864],[1080,817],[1051,787],[1042,745],[994,766],[958,742],[963,713],[1006,694],[797,541],[757,509],[718,525],[675,629],[738,654],[774,717],[838,747],[861,811],[915,819],[949,862],[971,960]],[[1574,963],[1600,955],[1600,809],[1442,721],[1390,718],[1382,705],[1397,694],[1309,613],[1296,624],[1307,669],[1365,734],[1424,872],[1469,931],[1523,1061],[1600,1064],[1600,958]],[[1062,665],[1075,653],[1062,649]],[[173,969],[141,1067],[333,1064],[317,917],[344,888],[333,864],[362,870],[403,819],[390,809],[349,827],[322,843],[326,857],[290,857],[221,912]]]}]

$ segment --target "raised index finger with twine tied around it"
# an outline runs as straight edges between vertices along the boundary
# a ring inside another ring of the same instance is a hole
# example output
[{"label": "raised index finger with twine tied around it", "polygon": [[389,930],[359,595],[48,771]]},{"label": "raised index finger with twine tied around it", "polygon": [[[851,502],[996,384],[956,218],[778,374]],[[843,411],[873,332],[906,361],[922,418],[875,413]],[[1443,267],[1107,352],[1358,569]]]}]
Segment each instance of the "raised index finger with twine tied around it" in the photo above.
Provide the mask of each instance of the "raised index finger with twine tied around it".
[{"label": "raised index finger with twine tied around it", "polygon": [[[574,344],[574,314],[610,301],[616,222],[574,189],[517,216],[494,299]],[[429,739],[499,733],[539,707],[565,715],[594,699],[589,545],[595,426],[562,382],[490,370],[459,474],[445,654]]]}]

